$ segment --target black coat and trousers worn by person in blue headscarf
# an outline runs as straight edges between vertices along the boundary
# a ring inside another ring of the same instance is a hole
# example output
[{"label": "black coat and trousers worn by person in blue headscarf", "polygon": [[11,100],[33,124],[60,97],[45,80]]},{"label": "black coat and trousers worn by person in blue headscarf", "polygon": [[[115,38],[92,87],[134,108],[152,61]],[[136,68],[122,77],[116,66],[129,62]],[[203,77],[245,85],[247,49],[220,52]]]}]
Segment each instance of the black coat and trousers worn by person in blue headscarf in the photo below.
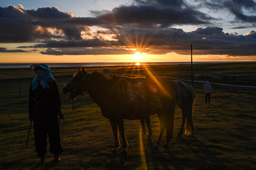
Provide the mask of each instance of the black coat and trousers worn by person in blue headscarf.
[{"label": "black coat and trousers worn by person in blue headscarf", "polygon": [[34,122],[35,144],[38,156],[46,154],[46,139],[49,137],[51,153],[62,153],[58,113],[61,101],[57,83],[48,82],[49,88],[43,89],[38,83],[35,90],[29,87],[29,120]]}]

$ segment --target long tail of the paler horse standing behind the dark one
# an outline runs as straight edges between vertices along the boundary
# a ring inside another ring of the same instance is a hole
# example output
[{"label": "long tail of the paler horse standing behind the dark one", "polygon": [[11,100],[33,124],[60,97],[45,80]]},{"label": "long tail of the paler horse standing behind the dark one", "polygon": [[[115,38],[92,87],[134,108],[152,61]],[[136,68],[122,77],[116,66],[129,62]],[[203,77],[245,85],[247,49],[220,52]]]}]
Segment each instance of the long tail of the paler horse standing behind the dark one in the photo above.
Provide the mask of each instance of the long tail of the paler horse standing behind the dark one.
[{"label": "long tail of the paler horse standing behind the dark one", "polygon": [[185,135],[192,136],[193,131],[193,121],[192,121],[192,114],[193,114],[193,108],[194,108],[194,102],[195,102],[195,91],[191,85],[189,85],[191,89],[191,99],[188,102],[188,109],[186,112],[186,122],[185,122]]}]

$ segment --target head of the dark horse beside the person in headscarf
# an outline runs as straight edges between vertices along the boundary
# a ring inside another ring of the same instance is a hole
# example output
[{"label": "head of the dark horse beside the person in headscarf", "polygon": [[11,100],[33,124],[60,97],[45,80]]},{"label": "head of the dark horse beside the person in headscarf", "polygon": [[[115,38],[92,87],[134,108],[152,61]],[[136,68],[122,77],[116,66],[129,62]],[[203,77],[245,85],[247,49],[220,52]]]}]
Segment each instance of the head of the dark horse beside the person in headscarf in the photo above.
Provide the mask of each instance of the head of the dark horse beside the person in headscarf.
[{"label": "head of the dark horse beside the person in headscarf", "polygon": [[62,92],[67,94],[70,92],[69,99],[74,100],[76,96],[87,92],[90,74],[82,67],[78,68],[78,72],[73,75],[72,80],[64,86]]}]

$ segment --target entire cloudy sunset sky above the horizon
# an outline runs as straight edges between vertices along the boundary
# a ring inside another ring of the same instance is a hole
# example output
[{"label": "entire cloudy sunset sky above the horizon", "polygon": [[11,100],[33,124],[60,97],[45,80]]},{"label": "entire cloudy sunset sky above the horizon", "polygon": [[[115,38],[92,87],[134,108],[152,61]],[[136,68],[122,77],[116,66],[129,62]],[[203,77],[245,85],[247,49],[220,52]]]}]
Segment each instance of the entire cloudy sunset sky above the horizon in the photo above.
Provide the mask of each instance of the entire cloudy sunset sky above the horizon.
[{"label": "entire cloudy sunset sky above the horizon", "polygon": [[0,0],[0,63],[256,61],[256,0]]}]

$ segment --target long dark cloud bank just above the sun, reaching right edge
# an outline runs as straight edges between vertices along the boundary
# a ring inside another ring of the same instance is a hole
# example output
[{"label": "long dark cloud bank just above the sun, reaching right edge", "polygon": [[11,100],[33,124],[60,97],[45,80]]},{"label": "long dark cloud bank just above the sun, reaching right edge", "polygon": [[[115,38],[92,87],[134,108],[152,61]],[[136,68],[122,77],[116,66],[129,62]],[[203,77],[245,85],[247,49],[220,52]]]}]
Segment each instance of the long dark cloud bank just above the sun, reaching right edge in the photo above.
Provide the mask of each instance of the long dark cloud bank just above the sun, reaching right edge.
[{"label": "long dark cloud bank just above the sun, reaching right edge", "polygon": [[[161,31],[156,29],[132,29],[115,27],[117,41],[87,40],[87,41],[51,41],[37,44],[35,48],[48,48],[42,51],[48,55],[79,55],[79,54],[113,54],[113,51],[124,54],[134,51],[120,51],[133,48],[148,54],[165,54],[176,52],[190,54],[190,44],[193,44],[193,54],[218,54],[229,56],[255,56],[256,32],[250,31],[245,35],[224,33],[220,27],[197,28],[192,32],[182,29],[167,28]],[[119,33],[127,34],[119,34]],[[108,33],[106,32],[101,32]],[[127,36],[128,35],[128,36]],[[31,47],[31,46],[30,46]],[[80,48],[74,48],[80,47]],[[94,48],[82,48],[94,47]],[[98,47],[98,48],[95,48]],[[102,48],[110,47],[110,48]],[[24,47],[22,47],[24,48]],[[70,51],[70,52],[69,52]],[[91,51],[91,52],[89,52]]]}]

